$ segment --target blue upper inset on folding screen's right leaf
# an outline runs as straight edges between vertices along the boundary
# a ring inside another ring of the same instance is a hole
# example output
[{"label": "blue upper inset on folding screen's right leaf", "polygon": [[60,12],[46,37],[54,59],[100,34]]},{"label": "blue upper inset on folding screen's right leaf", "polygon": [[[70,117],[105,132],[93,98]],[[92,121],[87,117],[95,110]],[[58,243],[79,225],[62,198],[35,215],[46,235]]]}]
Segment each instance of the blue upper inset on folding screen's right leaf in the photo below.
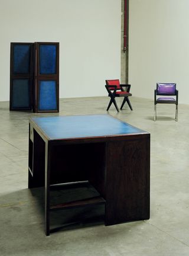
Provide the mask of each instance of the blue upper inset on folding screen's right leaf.
[{"label": "blue upper inset on folding screen's right leaf", "polygon": [[57,73],[57,46],[53,44],[40,44],[40,74],[55,75]]}]

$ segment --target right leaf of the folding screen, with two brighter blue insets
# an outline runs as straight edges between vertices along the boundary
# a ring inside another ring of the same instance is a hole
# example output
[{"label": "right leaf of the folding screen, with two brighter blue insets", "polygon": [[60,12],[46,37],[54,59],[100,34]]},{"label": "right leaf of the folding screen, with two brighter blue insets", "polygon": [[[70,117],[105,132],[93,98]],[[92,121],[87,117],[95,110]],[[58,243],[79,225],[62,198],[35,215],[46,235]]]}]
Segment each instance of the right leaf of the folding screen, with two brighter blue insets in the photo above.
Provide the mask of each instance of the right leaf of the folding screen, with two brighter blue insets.
[{"label": "right leaf of the folding screen, with two brighter blue insets", "polygon": [[35,43],[34,112],[58,112],[59,44]]}]

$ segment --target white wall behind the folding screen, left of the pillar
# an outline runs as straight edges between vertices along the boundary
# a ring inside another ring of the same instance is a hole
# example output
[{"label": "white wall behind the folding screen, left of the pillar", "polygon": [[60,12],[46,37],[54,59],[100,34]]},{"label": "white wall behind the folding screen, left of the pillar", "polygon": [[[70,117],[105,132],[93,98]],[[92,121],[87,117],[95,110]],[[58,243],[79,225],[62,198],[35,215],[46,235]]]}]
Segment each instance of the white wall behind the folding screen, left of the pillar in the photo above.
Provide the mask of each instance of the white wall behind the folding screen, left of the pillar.
[{"label": "white wall behind the folding screen, left of the pillar", "polygon": [[11,42],[60,42],[60,98],[107,95],[120,78],[120,0],[0,0],[0,101]]}]

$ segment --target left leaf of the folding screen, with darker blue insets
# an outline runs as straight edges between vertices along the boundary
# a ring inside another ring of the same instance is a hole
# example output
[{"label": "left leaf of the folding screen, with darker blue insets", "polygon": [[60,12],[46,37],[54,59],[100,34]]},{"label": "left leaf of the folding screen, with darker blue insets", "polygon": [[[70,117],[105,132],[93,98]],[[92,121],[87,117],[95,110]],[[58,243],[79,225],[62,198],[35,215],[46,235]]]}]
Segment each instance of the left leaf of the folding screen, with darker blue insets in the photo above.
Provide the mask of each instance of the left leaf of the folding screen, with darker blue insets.
[{"label": "left leaf of the folding screen, with darker blue insets", "polygon": [[32,109],[32,43],[11,43],[10,110]]}]

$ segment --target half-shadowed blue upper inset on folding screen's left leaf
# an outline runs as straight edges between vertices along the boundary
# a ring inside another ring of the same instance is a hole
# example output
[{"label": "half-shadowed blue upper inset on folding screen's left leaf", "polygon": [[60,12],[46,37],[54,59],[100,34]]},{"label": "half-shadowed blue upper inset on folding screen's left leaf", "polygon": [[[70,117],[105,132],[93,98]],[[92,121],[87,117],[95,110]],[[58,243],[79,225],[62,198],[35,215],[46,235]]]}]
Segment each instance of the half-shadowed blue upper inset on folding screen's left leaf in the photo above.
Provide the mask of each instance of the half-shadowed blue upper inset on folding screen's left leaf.
[{"label": "half-shadowed blue upper inset on folding screen's left leaf", "polygon": [[30,73],[30,44],[15,44],[13,49],[13,73]]}]

